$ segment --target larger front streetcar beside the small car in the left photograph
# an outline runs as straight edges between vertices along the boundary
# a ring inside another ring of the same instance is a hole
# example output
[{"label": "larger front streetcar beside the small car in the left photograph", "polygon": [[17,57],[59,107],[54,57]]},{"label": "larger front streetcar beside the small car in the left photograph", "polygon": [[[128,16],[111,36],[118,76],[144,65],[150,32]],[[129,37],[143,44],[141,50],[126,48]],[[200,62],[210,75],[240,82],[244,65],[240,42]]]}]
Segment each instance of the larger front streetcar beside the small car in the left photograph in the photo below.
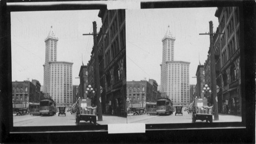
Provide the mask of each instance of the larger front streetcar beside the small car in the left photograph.
[{"label": "larger front streetcar beside the small car in the left photograph", "polygon": [[40,100],[39,114],[42,116],[53,116],[56,114],[56,103],[52,99]]}]

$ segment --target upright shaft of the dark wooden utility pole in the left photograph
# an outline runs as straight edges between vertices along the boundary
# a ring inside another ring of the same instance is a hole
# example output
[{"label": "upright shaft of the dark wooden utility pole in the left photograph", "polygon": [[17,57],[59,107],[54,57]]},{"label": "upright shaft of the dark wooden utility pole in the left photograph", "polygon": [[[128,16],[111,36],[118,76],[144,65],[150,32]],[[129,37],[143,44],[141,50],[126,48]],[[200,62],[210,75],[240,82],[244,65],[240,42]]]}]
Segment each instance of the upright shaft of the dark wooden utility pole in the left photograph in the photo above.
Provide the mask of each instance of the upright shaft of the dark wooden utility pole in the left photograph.
[{"label": "upright shaft of the dark wooden utility pole in the left photograph", "polygon": [[98,108],[98,121],[102,121],[101,97],[100,97],[100,82],[99,82],[99,59],[98,59],[98,46],[97,46],[97,24],[93,22],[93,42],[94,42],[94,70],[96,82],[96,101]]}]

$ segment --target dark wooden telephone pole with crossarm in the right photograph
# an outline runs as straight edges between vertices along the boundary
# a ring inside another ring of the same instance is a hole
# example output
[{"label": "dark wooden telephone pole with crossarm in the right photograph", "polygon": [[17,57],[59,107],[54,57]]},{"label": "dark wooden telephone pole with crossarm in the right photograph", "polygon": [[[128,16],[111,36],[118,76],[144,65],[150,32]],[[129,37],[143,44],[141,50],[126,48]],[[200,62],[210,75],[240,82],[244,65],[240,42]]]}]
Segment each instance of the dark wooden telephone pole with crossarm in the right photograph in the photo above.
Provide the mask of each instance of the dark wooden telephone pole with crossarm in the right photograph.
[{"label": "dark wooden telephone pole with crossarm in the right photograph", "polygon": [[211,81],[211,91],[214,99],[214,120],[219,120],[219,111],[218,111],[218,97],[217,97],[217,85],[216,85],[216,68],[215,68],[215,52],[214,52],[214,34],[212,21],[209,21],[210,33],[208,34],[199,34],[199,35],[210,35],[210,81]]}]

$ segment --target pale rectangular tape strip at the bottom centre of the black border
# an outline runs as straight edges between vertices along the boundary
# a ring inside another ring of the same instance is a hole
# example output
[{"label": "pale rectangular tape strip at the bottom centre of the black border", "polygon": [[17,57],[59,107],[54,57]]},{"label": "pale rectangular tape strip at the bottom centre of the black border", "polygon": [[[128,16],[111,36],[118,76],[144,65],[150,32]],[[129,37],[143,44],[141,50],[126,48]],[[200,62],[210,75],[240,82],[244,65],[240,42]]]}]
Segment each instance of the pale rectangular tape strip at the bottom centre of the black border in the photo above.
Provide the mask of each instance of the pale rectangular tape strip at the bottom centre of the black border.
[{"label": "pale rectangular tape strip at the bottom centre of the black border", "polygon": [[145,124],[109,124],[108,133],[145,133]]}]

